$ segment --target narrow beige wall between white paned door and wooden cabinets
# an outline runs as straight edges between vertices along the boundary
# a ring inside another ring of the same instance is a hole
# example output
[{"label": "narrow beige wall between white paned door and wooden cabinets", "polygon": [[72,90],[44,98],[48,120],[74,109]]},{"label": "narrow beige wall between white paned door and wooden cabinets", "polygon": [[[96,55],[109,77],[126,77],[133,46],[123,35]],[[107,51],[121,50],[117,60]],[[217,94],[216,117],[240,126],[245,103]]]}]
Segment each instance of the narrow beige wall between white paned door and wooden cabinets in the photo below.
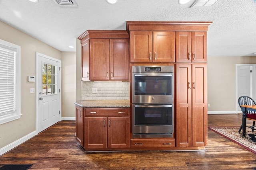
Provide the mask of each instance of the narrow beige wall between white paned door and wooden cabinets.
[{"label": "narrow beige wall between white paned door and wooden cabinets", "polygon": [[62,55],[62,118],[75,117],[76,102],[76,52]]}]

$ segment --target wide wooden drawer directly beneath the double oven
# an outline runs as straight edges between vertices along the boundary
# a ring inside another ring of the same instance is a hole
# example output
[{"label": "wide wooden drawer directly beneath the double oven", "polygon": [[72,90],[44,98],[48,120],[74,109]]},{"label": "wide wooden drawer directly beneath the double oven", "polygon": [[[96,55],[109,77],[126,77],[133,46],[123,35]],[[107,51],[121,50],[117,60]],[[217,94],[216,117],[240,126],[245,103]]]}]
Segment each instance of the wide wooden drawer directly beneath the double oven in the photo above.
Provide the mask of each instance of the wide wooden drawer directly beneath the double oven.
[{"label": "wide wooden drawer directly beneath the double oven", "polygon": [[175,147],[175,139],[131,139],[131,148]]}]

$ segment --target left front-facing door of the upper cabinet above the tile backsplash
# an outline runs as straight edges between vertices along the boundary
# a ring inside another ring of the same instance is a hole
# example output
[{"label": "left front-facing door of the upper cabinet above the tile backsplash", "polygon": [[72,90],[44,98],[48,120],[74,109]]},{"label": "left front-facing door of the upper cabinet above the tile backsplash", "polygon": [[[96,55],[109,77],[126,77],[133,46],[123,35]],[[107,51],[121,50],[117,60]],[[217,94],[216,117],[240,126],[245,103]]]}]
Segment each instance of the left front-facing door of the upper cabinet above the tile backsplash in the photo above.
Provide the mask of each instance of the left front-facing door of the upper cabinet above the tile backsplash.
[{"label": "left front-facing door of the upper cabinet above the tile backsplash", "polygon": [[109,80],[109,39],[90,40],[90,78]]}]

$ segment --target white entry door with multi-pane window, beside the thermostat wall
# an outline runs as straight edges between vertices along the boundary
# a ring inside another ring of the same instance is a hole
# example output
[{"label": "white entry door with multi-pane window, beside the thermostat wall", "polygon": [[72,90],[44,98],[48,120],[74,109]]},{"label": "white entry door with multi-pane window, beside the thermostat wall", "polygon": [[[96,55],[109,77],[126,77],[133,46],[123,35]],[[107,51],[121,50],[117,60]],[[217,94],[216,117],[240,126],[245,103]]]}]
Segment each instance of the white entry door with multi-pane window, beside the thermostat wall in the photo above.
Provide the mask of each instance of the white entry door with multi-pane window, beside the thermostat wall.
[{"label": "white entry door with multi-pane window, beside the thermostat wall", "polygon": [[61,120],[61,61],[36,53],[38,133]]}]

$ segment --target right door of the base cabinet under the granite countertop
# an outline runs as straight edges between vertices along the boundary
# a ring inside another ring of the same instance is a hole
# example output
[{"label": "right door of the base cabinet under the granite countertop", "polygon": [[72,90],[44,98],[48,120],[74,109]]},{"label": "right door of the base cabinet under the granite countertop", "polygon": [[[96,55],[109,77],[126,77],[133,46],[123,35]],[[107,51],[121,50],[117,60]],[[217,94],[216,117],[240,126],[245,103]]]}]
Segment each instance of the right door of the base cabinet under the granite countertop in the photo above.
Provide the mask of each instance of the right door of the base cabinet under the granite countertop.
[{"label": "right door of the base cabinet under the granite countertop", "polygon": [[130,147],[130,117],[108,117],[108,148]]}]

